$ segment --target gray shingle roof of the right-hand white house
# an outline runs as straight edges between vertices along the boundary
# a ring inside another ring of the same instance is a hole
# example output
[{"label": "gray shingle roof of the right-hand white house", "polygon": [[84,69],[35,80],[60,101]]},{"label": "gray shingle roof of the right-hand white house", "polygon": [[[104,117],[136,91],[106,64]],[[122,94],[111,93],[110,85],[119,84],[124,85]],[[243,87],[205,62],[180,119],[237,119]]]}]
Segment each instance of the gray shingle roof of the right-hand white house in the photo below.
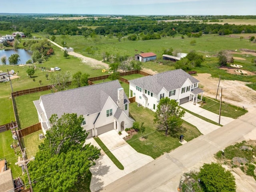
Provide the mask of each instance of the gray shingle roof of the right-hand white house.
[{"label": "gray shingle roof of the right-hand white house", "polygon": [[189,79],[193,84],[199,82],[196,78],[186,73],[182,69],[158,73],[153,76],[146,76],[130,80],[129,82],[158,95],[163,87],[167,91],[181,88],[187,79]]}]

